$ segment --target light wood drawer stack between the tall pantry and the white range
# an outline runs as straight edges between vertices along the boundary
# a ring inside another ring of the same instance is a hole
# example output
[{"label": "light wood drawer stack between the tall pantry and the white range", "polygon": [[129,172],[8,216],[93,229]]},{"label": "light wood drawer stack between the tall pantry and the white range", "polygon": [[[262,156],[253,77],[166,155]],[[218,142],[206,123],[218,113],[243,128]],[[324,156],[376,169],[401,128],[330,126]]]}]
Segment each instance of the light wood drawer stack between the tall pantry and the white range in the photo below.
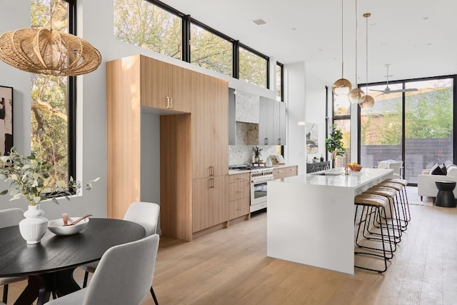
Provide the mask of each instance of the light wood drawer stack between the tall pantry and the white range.
[{"label": "light wood drawer stack between the tall pantry and the white range", "polygon": [[229,175],[229,220],[249,215],[250,204],[250,174]]}]

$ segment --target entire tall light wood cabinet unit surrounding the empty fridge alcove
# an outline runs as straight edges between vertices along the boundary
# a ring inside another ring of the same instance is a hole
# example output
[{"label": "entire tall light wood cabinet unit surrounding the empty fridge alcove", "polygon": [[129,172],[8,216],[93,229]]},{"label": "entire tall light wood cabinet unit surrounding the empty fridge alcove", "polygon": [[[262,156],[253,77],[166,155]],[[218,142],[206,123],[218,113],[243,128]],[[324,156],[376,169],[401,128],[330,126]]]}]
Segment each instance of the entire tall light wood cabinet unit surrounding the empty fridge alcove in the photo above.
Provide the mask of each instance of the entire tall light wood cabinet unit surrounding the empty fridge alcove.
[{"label": "entire tall light wood cabinet unit surrounding the empty fridge alcove", "polygon": [[161,233],[190,241],[226,226],[227,81],[141,55],[106,66],[108,216],[140,200],[144,106],[161,109]]}]

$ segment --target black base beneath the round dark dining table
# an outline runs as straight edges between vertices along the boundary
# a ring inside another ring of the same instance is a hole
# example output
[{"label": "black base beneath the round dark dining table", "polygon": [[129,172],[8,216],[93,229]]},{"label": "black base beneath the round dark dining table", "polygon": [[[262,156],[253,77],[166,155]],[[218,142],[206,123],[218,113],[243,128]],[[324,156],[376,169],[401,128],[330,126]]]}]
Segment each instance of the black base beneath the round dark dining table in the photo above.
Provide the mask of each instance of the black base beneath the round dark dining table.
[{"label": "black base beneath the round dark dining table", "polygon": [[29,283],[14,304],[33,304],[38,296],[36,304],[41,305],[49,301],[51,294],[60,297],[78,291],[81,287],[73,278],[74,269],[29,276]]}]

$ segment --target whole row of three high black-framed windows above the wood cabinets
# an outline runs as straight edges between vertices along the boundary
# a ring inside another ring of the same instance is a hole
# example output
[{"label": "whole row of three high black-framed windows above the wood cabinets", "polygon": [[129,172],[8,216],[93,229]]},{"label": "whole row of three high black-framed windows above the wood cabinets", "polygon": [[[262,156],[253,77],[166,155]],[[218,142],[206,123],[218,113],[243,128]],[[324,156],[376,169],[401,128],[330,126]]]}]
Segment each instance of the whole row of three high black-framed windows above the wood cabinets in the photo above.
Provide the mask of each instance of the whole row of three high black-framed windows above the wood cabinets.
[{"label": "whole row of three high black-framed windows above the wood cabinets", "polygon": [[114,36],[268,89],[268,56],[161,1],[114,0]]}]

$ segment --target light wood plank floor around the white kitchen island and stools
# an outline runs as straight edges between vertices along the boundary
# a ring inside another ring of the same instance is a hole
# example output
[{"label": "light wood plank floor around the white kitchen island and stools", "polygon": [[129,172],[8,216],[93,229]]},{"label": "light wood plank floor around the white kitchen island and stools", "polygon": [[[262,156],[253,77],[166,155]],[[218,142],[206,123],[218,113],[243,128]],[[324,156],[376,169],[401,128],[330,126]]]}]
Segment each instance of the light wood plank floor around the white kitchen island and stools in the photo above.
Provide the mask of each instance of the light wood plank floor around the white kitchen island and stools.
[{"label": "light wood plank floor around the white kitchen island and stools", "polygon": [[[162,238],[159,304],[457,304],[457,209],[420,202],[384,274],[353,276],[266,257],[266,214],[195,241]],[[297,241],[301,242],[301,241]],[[76,271],[78,281],[81,271]],[[10,302],[24,283],[10,286]],[[154,304],[149,295],[144,304]]]}]

